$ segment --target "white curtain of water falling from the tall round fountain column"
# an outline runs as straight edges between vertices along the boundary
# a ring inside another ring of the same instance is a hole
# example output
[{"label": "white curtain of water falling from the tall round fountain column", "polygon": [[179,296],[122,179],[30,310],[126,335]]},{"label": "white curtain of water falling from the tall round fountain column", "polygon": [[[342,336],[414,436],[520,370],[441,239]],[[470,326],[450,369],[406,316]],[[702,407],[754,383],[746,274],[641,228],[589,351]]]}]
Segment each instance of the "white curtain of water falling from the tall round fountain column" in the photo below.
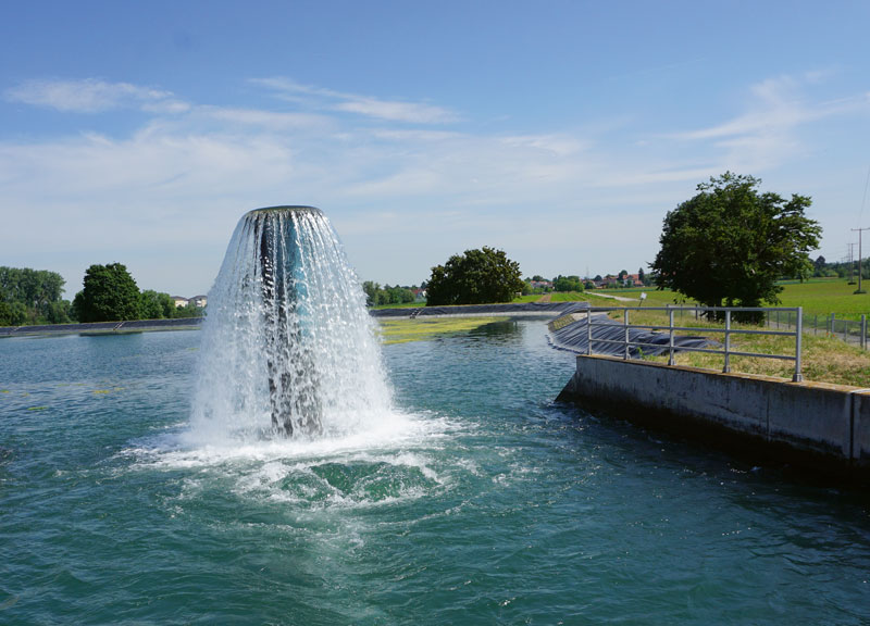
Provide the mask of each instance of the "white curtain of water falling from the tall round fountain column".
[{"label": "white curtain of water falling from the tall round fountain column", "polygon": [[250,211],[209,295],[192,426],[313,438],[357,431],[389,409],[356,274],[312,206]]}]

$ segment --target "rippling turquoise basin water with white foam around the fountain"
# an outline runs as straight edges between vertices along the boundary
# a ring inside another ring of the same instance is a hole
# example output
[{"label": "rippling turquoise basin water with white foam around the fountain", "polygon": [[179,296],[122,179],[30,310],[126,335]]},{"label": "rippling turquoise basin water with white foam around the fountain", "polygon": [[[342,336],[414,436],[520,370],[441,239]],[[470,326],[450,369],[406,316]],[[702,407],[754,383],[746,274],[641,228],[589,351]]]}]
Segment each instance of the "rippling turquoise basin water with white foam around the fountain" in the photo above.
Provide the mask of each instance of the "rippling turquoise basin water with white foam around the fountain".
[{"label": "rippling turquoise basin water with white foam around the fountain", "polygon": [[199,339],[0,341],[0,624],[870,623],[862,493],[554,404],[542,322],[309,442],[191,431]]}]

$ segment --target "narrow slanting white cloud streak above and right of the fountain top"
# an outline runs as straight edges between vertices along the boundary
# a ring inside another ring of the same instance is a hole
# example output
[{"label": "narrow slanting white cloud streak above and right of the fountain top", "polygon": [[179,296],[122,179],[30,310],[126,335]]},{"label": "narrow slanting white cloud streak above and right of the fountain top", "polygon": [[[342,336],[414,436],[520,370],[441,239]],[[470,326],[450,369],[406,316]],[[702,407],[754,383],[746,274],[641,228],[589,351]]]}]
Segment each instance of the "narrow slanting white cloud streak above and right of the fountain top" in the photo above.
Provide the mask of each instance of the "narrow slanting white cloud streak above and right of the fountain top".
[{"label": "narrow slanting white cloud streak above and right of the fountain top", "polygon": [[252,83],[273,89],[279,98],[291,102],[308,101],[324,110],[356,113],[388,122],[450,124],[460,120],[459,115],[449,109],[424,102],[383,100],[371,96],[300,85],[283,77],[254,78]]}]

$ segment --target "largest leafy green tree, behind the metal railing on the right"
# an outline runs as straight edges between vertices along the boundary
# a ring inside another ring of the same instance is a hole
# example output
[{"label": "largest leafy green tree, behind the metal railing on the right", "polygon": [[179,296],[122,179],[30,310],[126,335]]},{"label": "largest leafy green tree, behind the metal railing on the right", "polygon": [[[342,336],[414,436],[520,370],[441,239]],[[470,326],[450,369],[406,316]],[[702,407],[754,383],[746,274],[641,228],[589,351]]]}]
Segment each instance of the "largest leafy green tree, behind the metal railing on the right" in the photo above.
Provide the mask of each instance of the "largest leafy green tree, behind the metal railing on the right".
[{"label": "largest leafy green tree, behind the metal railing on the right", "polygon": [[761,180],[726,172],[664,217],[651,270],[660,288],[707,306],[776,304],[783,277],[805,276],[821,226],[809,197],[759,192]]}]

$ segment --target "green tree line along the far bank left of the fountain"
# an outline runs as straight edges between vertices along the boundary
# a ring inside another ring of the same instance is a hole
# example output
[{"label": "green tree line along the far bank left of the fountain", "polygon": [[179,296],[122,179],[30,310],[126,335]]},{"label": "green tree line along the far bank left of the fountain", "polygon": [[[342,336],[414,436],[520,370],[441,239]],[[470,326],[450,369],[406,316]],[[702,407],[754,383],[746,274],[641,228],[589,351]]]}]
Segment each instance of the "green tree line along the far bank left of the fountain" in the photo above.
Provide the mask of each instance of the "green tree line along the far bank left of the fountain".
[{"label": "green tree line along the far bank left of the fountain", "polygon": [[29,267],[0,267],[0,326],[124,322],[199,317],[203,310],[175,306],[169,293],[146,289],[121,263],[91,265],[83,289],[72,302],[64,300],[63,277],[57,272]]}]

